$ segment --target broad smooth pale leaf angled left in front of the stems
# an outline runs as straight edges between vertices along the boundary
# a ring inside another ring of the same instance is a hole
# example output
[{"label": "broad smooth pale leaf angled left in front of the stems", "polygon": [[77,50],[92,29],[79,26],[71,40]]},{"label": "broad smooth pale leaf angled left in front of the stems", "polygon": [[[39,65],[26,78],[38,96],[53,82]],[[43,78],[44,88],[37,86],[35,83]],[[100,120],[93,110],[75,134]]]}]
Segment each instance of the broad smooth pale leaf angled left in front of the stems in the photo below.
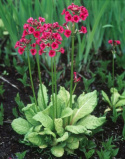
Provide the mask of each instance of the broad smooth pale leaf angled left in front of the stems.
[{"label": "broad smooth pale leaf angled left in front of the stems", "polygon": [[54,128],[53,120],[43,112],[37,113],[33,119],[41,122],[44,127],[49,128],[50,130],[53,130]]}]

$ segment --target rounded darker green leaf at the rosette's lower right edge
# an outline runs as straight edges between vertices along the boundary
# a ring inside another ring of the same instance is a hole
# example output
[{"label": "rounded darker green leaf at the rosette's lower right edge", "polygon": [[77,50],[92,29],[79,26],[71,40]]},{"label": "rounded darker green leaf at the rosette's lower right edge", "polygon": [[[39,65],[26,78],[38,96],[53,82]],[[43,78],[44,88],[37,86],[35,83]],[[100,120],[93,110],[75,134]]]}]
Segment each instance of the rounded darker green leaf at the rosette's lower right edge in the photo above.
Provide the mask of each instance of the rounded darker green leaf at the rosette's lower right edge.
[{"label": "rounded darker green leaf at the rosette's lower right edge", "polygon": [[71,150],[77,149],[79,147],[79,140],[73,136],[70,136],[66,145]]}]

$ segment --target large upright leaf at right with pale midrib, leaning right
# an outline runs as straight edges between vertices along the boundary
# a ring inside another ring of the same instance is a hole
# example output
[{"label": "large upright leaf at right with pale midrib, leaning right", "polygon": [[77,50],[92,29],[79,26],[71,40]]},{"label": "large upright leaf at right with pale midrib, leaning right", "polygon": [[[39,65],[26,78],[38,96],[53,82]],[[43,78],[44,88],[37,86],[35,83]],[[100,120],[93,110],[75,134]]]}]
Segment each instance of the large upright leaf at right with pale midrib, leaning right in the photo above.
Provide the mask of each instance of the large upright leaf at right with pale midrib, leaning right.
[{"label": "large upright leaf at right with pale midrib, leaning right", "polygon": [[72,117],[71,124],[76,123],[79,119],[90,114],[94,110],[96,105],[97,105],[97,92],[93,91],[91,93],[85,94],[83,96],[83,100],[81,100],[79,109],[75,111],[75,114]]}]

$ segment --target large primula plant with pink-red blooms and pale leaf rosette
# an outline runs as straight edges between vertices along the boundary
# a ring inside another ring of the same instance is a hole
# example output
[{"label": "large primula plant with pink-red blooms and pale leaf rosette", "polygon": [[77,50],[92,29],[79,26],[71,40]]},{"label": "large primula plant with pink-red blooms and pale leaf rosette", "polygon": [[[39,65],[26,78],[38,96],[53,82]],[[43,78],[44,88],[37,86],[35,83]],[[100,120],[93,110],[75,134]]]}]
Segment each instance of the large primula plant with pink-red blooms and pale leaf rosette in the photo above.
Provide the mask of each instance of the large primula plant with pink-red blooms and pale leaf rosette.
[{"label": "large primula plant with pink-red blooms and pale leaf rosette", "polygon": [[[44,23],[45,19],[42,17],[39,17],[39,21],[29,18],[28,23],[24,24],[23,36],[15,46],[19,47],[18,52],[20,54],[24,50],[27,52],[35,103],[28,104],[22,109],[24,117],[13,120],[12,128],[18,134],[24,135],[23,143],[41,149],[49,147],[51,153],[56,157],[63,156],[64,151],[73,153],[75,149],[79,148],[79,143],[84,135],[91,135],[93,129],[105,122],[105,117],[97,118],[91,115],[97,105],[96,90],[88,94],[83,92],[79,97],[73,94],[77,83],[80,81],[76,72],[74,72],[73,80],[75,23],[78,23],[79,20],[85,20],[88,11],[85,7],[74,4],[70,5],[68,9],[71,10],[73,16],[68,11],[63,10],[66,30],[57,22],[53,24]],[[57,94],[56,54],[58,52],[64,53],[64,49],[59,48],[62,41],[60,34],[63,32],[67,38],[72,35],[71,84],[70,93],[64,87],[60,87]],[[82,27],[79,32],[85,33],[86,29]],[[36,55],[37,59],[40,79],[37,99],[32,81],[29,52],[34,56]],[[50,97],[47,95],[46,86],[42,84],[39,66],[39,55],[45,53],[51,57],[52,95]],[[73,81],[75,83],[74,89]]]}]

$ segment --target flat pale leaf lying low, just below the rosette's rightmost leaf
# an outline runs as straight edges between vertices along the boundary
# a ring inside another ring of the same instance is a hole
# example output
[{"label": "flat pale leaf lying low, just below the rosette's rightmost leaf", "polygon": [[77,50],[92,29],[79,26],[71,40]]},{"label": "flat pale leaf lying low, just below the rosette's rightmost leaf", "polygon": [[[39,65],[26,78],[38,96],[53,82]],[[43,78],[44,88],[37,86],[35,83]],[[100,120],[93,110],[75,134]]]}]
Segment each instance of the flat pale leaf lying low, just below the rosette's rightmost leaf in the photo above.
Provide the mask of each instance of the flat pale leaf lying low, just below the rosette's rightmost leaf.
[{"label": "flat pale leaf lying low, just below the rosette's rightmost leaf", "polygon": [[73,133],[73,134],[87,134],[90,135],[91,131],[87,130],[84,126],[82,125],[68,125],[65,127],[65,130]]}]

